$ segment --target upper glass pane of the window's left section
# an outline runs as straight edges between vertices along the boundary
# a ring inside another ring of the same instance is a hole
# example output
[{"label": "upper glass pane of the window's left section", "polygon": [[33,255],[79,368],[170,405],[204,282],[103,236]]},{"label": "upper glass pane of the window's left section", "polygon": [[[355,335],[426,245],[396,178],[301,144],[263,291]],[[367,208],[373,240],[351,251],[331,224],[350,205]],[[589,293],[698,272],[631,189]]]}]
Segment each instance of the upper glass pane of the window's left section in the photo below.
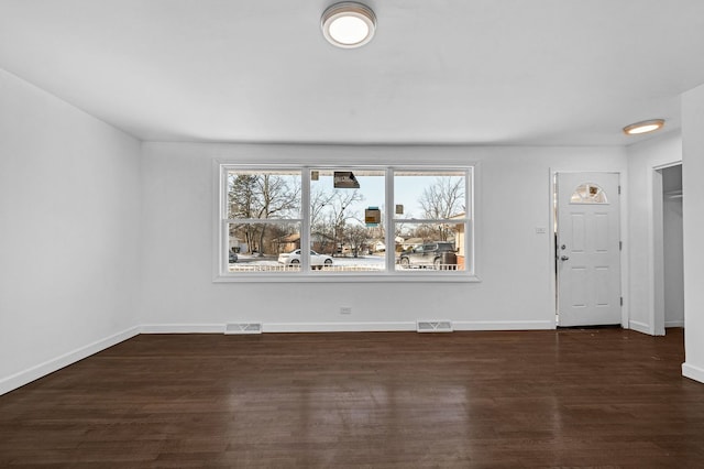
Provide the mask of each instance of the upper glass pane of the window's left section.
[{"label": "upper glass pane of the window's left section", "polygon": [[228,171],[228,219],[300,218],[300,172]]}]

